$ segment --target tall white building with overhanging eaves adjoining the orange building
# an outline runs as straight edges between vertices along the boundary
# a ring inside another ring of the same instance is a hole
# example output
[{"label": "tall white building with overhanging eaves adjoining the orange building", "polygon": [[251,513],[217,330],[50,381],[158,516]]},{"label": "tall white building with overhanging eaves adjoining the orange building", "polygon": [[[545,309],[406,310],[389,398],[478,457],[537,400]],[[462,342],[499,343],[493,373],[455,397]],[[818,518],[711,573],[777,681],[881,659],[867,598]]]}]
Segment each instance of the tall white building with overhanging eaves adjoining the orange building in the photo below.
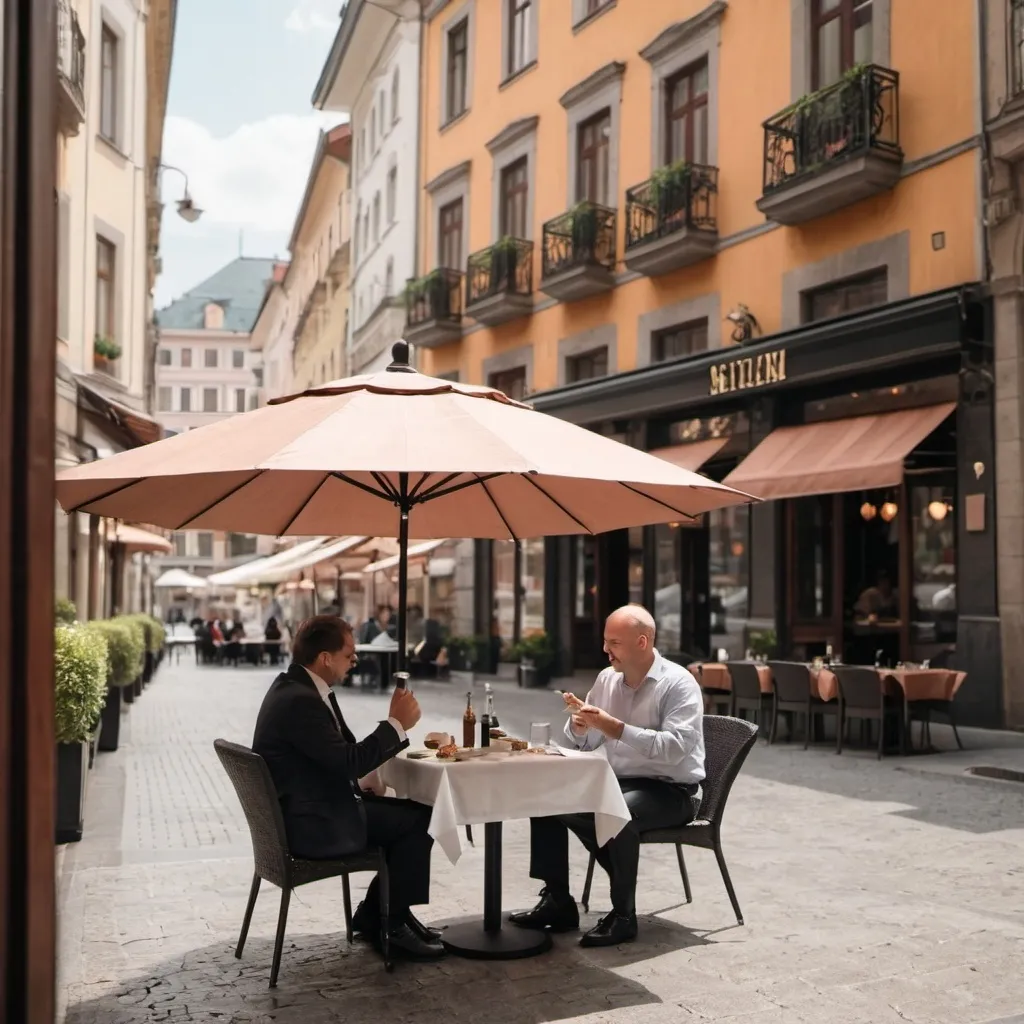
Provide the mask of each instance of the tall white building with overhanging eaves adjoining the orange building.
[{"label": "tall white building with overhanging eaves adjoining the orange building", "polygon": [[390,361],[417,274],[420,9],[416,0],[349,0],[313,104],[352,126],[352,274],[348,368]]}]

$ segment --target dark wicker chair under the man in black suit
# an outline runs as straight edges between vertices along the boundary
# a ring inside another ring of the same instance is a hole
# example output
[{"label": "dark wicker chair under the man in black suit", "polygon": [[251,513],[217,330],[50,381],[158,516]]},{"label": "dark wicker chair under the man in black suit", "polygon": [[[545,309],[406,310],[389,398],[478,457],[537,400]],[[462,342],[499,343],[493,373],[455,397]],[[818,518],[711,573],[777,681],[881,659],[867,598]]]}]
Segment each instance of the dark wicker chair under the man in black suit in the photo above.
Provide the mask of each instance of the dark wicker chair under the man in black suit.
[{"label": "dark wicker chair under the man in black suit", "polygon": [[391,951],[388,944],[388,874],[384,852],[376,847],[368,848],[348,857],[337,860],[302,860],[293,857],[288,852],[288,839],[285,835],[285,819],[278,802],[278,793],[266,762],[254,754],[248,746],[232,743],[226,739],[215,739],[214,750],[220,763],[227,772],[227,777],[234,786],[246,821],[249,823],[249,834],[253,843],[253,860],[255,870],[253,884],[249,891],[249,903],[246,915],[242,920],[242,932],[234,955],[242,957],[246,936],[249,934],[249,924],[252,921],[256,897],[259,895],[260,881],[265,879],[271,885],[281,888],[281,910],[278,914],[278,936],[273,945],[273,963],[270,966],[270,987],[278,985],[278,972],[281,969],[281,951],[285,944],[285,926],[288,923],[288,904],[292,890],[310,882],[321,882],[324,879],[341,878],[342,894],[345,899],[345,937],[352,941],[352,895],[349,890],[348,876],[356,871],[376,871],[380,878],[381,894],[381,949],[384,953],[384,968],[390,971],[393,967]]}]

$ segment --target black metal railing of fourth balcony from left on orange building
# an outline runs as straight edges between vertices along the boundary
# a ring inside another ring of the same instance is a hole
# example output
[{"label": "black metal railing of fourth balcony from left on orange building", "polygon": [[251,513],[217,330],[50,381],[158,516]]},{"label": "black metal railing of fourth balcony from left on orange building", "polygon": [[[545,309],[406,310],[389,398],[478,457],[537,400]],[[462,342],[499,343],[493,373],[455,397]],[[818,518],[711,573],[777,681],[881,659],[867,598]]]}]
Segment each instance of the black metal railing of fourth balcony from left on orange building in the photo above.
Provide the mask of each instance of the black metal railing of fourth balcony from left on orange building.
[{"label": "black metal railing of fourth balcony from left on orange building", "polygon": [[685,228],[718,230],[718,168],[676,164],[626,190],[626,248]]}]

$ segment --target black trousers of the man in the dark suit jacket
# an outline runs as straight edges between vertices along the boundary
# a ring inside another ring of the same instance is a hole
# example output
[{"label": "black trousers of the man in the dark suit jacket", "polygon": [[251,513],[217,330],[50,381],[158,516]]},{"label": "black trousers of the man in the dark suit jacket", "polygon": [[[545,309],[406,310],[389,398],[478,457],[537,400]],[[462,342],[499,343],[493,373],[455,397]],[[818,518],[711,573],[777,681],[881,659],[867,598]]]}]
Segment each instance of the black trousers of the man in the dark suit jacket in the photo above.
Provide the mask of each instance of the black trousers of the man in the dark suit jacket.
[{"label": "black trousers of the man in the dark suit jacket", "polygon": [[[427,833],[431,808],[413,800],[362,795],[367,812],[367,841],[384,849],[390,879],[391,920],[404,920],[409,908],[430,902],[430,850],[434,841]],[[380,906],[379,882],[375,877],[367,890],[367,909]]]}]

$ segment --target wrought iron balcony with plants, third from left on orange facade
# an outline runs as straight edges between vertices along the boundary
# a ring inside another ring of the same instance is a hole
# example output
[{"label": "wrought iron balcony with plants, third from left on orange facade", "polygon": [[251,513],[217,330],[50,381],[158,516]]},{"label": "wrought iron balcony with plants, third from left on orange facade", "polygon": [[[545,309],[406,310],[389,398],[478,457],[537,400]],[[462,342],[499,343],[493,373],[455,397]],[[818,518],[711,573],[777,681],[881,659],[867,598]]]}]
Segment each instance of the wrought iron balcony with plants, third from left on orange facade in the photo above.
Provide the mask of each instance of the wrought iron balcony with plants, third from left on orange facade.
[{"label": "wrought iron balcony with plants, third from left on orange facade", "polygon": [[614,283],[615,211],[578,203],[544,225],[541,291],[571,302],[606,292]]}]

